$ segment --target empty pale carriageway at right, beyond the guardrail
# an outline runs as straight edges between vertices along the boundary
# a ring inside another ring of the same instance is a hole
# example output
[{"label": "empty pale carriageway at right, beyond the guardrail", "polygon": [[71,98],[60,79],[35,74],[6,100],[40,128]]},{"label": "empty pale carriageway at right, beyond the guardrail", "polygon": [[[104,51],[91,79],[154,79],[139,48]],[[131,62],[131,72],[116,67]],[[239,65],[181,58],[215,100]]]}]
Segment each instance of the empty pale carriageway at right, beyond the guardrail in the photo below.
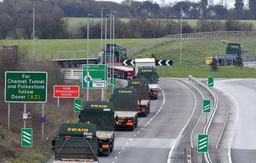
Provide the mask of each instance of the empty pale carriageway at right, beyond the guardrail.
[{"label": "empty pale carriageway at right, beyond the guardrail", "polygon": [[256,162],[256,80],[215,80],[214,87],[225,91],[237,110],[237,121],[233,122],[236,126],[229,145],[231,162]]}]

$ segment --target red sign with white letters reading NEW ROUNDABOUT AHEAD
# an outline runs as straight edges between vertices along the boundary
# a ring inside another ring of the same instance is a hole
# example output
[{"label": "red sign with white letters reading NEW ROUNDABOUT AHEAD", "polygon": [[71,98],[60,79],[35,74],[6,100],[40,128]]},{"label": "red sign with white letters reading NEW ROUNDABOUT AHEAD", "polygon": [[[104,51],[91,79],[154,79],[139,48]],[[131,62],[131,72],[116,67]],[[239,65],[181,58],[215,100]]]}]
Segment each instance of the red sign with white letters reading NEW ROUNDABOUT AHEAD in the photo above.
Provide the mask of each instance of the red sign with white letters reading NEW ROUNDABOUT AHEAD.
[{"label": "red sign with white letters reading NEW ROUNDABOUT AHEAD", "polygon": [[79,86],[54,86],[54,97],[78,98]]}]

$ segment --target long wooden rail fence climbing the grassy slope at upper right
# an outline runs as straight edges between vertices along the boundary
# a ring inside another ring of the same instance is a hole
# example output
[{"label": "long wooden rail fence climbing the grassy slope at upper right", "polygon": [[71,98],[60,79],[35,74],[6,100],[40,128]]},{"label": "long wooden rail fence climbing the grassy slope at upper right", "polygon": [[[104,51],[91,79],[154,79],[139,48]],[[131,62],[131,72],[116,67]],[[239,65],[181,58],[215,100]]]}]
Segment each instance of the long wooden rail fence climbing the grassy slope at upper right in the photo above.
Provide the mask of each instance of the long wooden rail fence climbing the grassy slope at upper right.
[{"label": "long wooden rail fence climbing the grassy slope at upper right", "polygon": [[161,37],[159,39],[149,41],[147,43],[143,43],[137,45],[136,47],[129,49],[127,51],[127,57],[131,57],[136,55],[137,53],[154,48],[158,45],[169,43],[170,41],[178,41],[180,37],[182,40],[193,40],[193,39],[202,39],[205,37],[235,37],[235,36],[256,36],[256,31],[216,31],[216,32],[198,32],[198,33],[190,33],[190,34],[180,34],[178,35],[168,35],[165,37]]}]

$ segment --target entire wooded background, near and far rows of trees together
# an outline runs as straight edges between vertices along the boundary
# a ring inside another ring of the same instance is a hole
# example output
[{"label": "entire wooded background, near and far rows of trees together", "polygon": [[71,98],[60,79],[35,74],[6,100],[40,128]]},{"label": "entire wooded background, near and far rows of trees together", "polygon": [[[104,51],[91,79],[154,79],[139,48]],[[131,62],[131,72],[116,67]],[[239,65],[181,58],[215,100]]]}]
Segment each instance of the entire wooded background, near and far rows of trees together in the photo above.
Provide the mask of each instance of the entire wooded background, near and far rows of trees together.
[{"label": "entire wooded background, near and far rows of trees together", "polygon": [[[205,31],[253,31],[252,24],[241,23],[231,18],[226,19],[226,21],[220,21],[214,19],[214,16],[206,16],[207,18],[211,18],[211,20],[203,19],[200,14],[204,13],[203,15],[208,15],[208,11],[201,10],[200,7],[196,7],[198,10],[191,7],[189,7],[189,10],[186,10],[186,5],[188,4],[191,5],[192,2],[177,2],[173,6],[169,6],[172,9],[169,10],[168,5],[162,4],[160,7],[157,3],[153,3],[152,1],[137,2],[126,0],[119,4],[94,0],[4,0],[3,2],[0,2],[0,39],[32,39],[33,5],[36,5],[35,37],[39,39],[86,38],[86,24],[77,24],[76,27],[68,28],[67,21],[66,19],[63,19],[63,17],[87,17],[88,13],[94,14],[94,18],[101,17],[102,6],[105,7],[104,14],[109,14],[110,10],[119,12],[115,16],[115,38],[149,38],[180,34],[180,22],[174,21],[173,19],[180,18],[181,6],[183,34]],[[141,5],[144,5],[144,7]],[[154,8],[154,6],[156,8]],[[206,9],[209,7],[206,5]],[[168,15],[166,15],[167,13]],[[212,11],[209,13],[211,13],[210,15],[216,15],[213,14],[215,12]],[[227,18],[223,13],[220,15],[222,16],[221,18]],[[128,22],[119,20],[119,18],[124,17],[130,18]],[[190,26],[184,20],[186,18],[199,18],[199,20],[196,26]],[[108,25],[109,23],[110,21],[108,18]],[[99,39],[101,35],[100,31],[100,22],[90,23],[90,38]],[[103,34],[105,34],[104,31]]]}]

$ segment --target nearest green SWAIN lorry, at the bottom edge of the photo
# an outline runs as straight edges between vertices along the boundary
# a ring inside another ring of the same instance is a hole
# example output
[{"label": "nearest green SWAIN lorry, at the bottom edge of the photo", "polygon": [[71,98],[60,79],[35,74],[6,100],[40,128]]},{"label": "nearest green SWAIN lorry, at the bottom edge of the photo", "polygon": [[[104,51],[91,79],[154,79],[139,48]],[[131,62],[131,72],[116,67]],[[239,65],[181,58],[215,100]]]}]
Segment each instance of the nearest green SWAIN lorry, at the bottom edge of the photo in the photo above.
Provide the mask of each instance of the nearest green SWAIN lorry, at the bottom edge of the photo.
[{"label": "nearest green SWAIN lorry, at the bottom edge of the photo", "polygon": [[52,140],[54,162],[98,162],[101,141],[95,124],[63,123]]}]

